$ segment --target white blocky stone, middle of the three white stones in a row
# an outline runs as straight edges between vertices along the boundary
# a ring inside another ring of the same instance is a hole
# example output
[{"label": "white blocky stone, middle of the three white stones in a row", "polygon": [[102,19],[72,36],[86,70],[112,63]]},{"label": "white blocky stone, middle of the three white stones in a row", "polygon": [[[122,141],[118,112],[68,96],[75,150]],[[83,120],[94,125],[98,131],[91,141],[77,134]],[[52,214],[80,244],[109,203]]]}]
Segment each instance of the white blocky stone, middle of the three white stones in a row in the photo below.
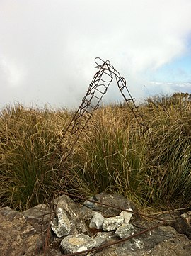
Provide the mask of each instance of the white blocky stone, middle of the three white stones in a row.
[{"label": "white blocky stone, middle of the three white stones in a row", "polygon": [[123,216],[116,216],[116,217],[110,217],[105,218],[103,221],[103,231],[112,231],[119,228],[122,223],[124,223],[124,217]]}]

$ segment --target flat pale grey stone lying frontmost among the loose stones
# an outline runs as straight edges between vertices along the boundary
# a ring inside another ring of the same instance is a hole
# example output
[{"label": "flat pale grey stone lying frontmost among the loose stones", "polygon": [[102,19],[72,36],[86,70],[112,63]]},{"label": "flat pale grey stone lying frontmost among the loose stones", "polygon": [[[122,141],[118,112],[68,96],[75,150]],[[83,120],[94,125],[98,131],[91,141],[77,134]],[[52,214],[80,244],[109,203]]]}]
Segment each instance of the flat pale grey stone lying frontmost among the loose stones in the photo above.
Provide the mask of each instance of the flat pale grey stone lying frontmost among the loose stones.
[{"label": "flat pale grey stone lying frontmost among the loose stones", "polygon": [[95,247],[96,241],[84,234],[68,235],[62,239],[60,245],[64,253],[75,253]]}]

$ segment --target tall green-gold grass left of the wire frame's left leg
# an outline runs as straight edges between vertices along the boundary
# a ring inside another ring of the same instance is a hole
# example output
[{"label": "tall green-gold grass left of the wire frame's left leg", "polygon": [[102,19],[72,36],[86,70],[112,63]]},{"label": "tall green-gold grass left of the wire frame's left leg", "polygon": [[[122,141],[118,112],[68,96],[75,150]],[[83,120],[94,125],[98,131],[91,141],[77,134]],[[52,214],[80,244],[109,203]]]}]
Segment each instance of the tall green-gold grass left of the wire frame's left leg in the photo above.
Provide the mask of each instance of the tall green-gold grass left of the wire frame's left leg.
[{"label": "tall green-gold grass left of the wire frame's left leg", "polygon": [[[52,193],[59,157],[52,153],[59,141],[64,113],[10,106],[0,118],[0,204],[30,208]],[[50,162],[51,160],[51,162]],[[52,162],[53,161],[53,162]]]}]

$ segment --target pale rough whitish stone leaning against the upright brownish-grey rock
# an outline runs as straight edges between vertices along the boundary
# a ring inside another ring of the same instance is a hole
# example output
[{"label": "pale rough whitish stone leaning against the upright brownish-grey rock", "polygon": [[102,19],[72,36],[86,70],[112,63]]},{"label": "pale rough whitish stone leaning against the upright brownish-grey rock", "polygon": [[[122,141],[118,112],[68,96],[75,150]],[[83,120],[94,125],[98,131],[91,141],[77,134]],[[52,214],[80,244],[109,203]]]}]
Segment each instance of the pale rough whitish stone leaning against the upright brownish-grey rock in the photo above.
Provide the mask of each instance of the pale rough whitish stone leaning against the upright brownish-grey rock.
[{"label": "pale rough whitish stone leaning against the upright brownish-grey rock", "polygon": [[69,218],[62,208],[57,208],[57,218],[53,219],[51,228],[59,238],[62,238],[64,235],[69,235],[71,230]]}]

